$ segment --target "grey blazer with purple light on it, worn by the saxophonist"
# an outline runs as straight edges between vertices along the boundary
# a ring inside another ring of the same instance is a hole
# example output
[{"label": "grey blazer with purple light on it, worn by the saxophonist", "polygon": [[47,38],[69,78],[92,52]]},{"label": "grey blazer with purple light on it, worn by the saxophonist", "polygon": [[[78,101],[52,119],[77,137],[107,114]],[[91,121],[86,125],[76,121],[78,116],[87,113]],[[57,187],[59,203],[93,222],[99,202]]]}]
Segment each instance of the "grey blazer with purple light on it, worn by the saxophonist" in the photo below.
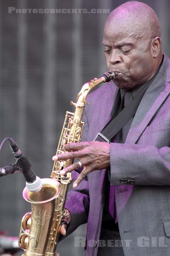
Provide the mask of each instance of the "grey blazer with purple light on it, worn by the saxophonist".
[{"label": "grey blazer with purple light on it, worn by the saxophonist", "polygon": [[[94,140],[111,118],[116,92],[117,87],[111,82],[88,96],[83,141]],[[72,217],[67,235],[88,222],[87,256],[97,255],[105,175],[106,170],[91,172],[88,180],[68,193],[65,204]],[[73,172],[73,178],[76,177]],[[125,256],[169,256],[170,59],[167,56],[139,104],[125,144],[111,143],[111,185],[115,186]],[[88,241],[93,241],[93,246]]]}]

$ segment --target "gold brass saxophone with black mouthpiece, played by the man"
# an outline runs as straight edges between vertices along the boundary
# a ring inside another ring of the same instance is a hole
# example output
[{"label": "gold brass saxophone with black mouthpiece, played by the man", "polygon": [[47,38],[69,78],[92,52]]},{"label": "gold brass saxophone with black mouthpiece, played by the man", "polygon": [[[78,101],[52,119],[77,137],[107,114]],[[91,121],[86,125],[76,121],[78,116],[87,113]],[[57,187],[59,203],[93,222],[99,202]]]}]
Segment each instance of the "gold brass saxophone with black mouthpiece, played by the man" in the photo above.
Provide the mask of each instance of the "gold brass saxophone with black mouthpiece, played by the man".
[{"label": "gold brass saxophone with black mouthpiece, played by the man", "polygon": [[[88,93],[97,85],[109,82],[119,75],[121,73],[108,71],[99,79],[94,78],[82,86],[77,102],[71,102],[75,112],[66,112],[56,154],[66,153],[65,144],[81,141],[84,126],[82,114]],[[20,227],[19,246],[24,250],[23,256],[59,256],[56,252],[57,242],[62,219],[68,214],[64,207],[68,184],[71,182],[71,172],[60,175],[60,171],[72,162],[72,159],[54,161],[51,179],[42,179],[42,189],[39,192],[30,192],[27,188],[23,190],[23,198],[31,203],[31,212],[23,216]]]}]

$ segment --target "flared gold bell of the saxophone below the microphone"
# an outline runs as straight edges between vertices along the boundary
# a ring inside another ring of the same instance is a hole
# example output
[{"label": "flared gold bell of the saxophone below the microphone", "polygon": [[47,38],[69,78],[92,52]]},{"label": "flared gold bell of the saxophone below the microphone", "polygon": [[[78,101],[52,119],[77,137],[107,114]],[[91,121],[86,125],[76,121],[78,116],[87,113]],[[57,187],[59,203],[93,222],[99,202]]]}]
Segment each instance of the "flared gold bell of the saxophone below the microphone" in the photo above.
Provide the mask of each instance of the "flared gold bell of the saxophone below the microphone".
[{"label": "flared gold bell of the saxophone below the microphone", "polygon": [[47,237],[55,212],[55,200],[61,193],[61,184],[57,180],[42,179],[42,189],[30,192],[26,187],[23,198],[32,204],[21,222],[19,246],[25,250],[25,256],[44,256]]}]

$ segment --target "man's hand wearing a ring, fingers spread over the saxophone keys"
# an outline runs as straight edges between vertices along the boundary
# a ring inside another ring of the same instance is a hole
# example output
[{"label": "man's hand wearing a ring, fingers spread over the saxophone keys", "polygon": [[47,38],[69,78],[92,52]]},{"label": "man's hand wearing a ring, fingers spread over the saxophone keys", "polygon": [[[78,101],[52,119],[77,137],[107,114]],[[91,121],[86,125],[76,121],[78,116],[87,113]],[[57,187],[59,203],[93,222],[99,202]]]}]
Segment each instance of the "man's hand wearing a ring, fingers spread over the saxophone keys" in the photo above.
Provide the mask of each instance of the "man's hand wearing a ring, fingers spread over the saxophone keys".
[{"label": "man's hand wearing a ring, fingers spread over the saxophone keys", "polygon": [[[53,160],[60,161],[77,158],[82,166],[84,166],[82,172],[77,177],[77,180],[74,181],[74,188],[76,188],[83,178],[90,172],[102,170],[110,166],[109,143],[99,141],[71,143],[65,145],[65,151],[68,151],[68,153],[55,155]],[[62,169],[60,174],[65,175],[66,173],[72,172],[79,167],[79,163],[73,163],[65,169]]]}]

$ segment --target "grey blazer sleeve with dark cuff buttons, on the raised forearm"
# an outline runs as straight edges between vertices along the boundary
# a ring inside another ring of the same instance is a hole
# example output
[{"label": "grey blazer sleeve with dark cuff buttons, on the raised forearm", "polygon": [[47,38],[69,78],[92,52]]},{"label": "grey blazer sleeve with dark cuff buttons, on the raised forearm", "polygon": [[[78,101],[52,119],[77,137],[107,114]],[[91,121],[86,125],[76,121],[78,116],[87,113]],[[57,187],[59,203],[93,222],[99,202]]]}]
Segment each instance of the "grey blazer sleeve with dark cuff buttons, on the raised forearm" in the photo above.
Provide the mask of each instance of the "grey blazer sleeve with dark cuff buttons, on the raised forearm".
[{"label": "grey blazer sleeve with dark cuff buttons, on the raised forearm", "polygon": [[170,185],[170,148],[111,143],[111,185]]}]

